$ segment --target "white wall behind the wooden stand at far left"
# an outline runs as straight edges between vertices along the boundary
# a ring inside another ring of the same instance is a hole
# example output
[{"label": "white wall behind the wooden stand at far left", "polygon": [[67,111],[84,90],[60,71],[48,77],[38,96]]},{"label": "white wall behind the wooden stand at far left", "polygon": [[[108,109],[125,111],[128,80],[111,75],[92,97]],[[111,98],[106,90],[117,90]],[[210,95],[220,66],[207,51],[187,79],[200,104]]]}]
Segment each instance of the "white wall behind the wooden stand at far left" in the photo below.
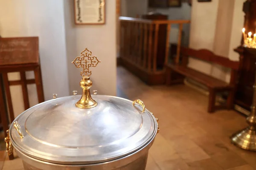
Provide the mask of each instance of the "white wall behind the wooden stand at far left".
[{"label": "white wall behind the wooden stand at far left", "polygon": [[[0,35],[2,37],[39,37],[39,52],[45,100],[52,94],[67,96],[67,57],[63,0],[0,0]],[[34,77],[32,72],[27,78]],[[19,79],[19,74],[9,74]],[[28,85],[29,103],[38,103],[35,85]],[[20,86],[11,87],[15,116],[24,111]]]}]

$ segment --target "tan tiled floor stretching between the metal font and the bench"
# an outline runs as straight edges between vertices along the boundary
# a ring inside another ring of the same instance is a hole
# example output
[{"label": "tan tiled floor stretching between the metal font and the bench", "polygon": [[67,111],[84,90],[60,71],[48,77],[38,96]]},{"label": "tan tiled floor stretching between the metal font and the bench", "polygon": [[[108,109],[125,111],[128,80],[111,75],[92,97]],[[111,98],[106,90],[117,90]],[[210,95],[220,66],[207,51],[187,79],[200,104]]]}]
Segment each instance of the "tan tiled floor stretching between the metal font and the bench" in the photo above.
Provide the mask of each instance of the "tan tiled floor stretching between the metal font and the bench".
[{"label": "tan tiled floor stretching between the metal font and the bench", "polygon": [[[229,136],[247,126],[244,116],[226,110],[209,114],[207,96],[185,85],[150,87],[122,67],[117,71],[118,94],[143,100],[159,118],[146,170],[256,170],[256,153],[230,144]],[[3,166],[22,169],[18,158]]]}]

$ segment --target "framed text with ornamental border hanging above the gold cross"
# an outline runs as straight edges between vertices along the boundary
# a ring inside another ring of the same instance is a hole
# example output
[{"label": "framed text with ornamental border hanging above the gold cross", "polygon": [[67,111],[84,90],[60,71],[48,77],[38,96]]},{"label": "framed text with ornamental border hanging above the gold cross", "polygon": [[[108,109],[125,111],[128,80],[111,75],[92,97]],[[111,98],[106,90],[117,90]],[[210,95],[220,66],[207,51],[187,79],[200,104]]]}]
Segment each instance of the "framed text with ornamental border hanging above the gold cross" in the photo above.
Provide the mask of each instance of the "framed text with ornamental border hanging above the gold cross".
[{"label": "framed text with ornamental border hanging above the gold cross", "polygon": [[105,24],[105,0],[74,0],[75,24]]}]

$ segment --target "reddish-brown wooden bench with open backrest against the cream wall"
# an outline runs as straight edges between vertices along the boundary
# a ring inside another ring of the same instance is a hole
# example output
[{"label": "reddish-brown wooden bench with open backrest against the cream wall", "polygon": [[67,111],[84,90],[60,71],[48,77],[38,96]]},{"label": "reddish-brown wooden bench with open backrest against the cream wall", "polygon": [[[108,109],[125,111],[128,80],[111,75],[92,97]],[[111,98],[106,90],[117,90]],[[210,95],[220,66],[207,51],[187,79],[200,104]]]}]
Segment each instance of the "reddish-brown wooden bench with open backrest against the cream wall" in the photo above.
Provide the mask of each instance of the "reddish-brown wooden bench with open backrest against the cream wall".
[{"label": "reddish-brown wooden bench with open backrest against the cream wall", "polygon": [[[191,48],[181,47],[181,59],[176,59],[176,64],[166,65],[166,84],[171,85],[183,82],[184,77],[189,77],[197,82],[206,85],[209,89],[208,112],[214,112],[215,97],[217,92],[228,91],[227,109],[233,108],[233,100],[236,89],[238,70],[240,68],[239,61],[231,61],[225,57],[217,56],[209,50],[193,50]],[[231,69],[230,83],[216,79],[210,75],[201,73],[192,68],[187,67],[188,58],[194,57],[203,61],[215,63]],[[180,60],[180,61],[179,61]]]}]

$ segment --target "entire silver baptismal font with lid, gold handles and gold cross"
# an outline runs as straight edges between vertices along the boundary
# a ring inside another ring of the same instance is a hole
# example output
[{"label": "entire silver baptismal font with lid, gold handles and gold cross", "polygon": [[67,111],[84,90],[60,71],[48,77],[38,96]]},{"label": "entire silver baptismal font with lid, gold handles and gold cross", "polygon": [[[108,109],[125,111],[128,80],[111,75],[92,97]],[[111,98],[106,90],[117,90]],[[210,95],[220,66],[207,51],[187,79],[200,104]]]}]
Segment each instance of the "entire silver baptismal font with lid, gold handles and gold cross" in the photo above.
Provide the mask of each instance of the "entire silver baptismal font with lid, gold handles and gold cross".
[{"label": "entire silver baptismal font with lid, gold handles and gold cross", "polygon": [[72,62],[83,68],[82,95],[53,94],[12,122],[6,151],[15,149],[25,170],[145,170],[158,119],[140,99],[91,96],[90,67],[100,62],[91,55],[85,48]]}]

